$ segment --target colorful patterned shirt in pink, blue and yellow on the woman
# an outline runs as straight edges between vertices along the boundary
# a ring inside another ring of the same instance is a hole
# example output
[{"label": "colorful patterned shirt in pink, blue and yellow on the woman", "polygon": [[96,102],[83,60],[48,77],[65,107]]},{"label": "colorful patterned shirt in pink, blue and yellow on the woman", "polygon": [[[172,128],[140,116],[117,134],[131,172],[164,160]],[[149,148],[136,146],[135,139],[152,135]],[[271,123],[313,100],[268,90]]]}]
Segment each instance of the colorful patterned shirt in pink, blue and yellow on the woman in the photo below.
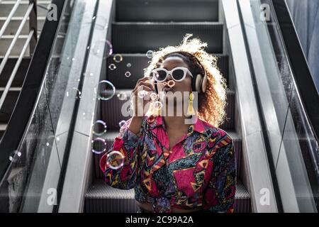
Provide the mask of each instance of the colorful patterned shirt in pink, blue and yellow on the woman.
[{"label": "colorful patterned shirt in pink, blue and yellow on the woman", "polygon": [[187,133],[169,150],[162,116],[145,116],[140,133],[121,127],[111,149],[124,156],[113,170],[100,160],[105,182],[118,189],[135,189],[135,199],[152,204],[154,212],[201,209],[233,213],[236,158],[233,141],[220,128],[197,118]]}]

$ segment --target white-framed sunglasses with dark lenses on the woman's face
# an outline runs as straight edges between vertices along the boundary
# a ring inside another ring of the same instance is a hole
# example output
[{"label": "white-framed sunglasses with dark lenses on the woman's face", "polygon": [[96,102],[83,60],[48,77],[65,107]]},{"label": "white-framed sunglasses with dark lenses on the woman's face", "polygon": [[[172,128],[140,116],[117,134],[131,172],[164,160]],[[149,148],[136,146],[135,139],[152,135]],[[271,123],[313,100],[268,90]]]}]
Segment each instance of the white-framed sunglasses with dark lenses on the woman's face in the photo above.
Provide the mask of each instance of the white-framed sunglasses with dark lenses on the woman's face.
[{"label": "white-framed sunglasses with dark lenses on the woman's face", "polygon": [[[191,71],[189,71],[186,67],[175,67],[172,70],[167,70],[164,68],[157,68],[152,70],[152,77],[157,82],[164,82],[167,79],[167,76],[170,74],[172,76],[172,79],[176,82],[181,82],[183,79],[185,79],[186,74],[189,73],[191,77],[193,77],[193,74],[191,74]],[[194,77],[193,77],[194,78]]]}]

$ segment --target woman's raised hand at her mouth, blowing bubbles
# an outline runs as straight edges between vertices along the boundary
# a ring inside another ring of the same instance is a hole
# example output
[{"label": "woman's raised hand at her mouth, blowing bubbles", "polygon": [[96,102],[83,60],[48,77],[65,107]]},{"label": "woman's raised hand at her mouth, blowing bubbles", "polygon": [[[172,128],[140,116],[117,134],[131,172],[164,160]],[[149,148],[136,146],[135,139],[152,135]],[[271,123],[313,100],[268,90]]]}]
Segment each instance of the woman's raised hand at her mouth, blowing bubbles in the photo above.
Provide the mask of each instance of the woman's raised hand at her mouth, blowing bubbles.
[{"label": "woman's raised hand at her mouth, blowing bubbles", "polygon": [[131,94],[133,101],[133,117],[143,118],[150,107],[150,94],[155,92],[155,87],[148,80],[151,77],[143,77],[138,80]]}]

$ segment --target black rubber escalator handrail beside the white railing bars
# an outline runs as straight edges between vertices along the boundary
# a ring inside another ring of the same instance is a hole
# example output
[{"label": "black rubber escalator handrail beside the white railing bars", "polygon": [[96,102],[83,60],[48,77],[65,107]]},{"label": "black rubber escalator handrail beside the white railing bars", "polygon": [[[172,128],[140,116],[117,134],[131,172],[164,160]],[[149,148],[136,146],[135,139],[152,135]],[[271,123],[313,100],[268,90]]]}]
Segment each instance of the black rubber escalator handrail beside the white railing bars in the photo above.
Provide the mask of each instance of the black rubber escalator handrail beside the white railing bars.
[{"label": "black rubber escalator handrail beside the white railing bars", "polygon": [[65,2],[65,0],[52,0],[51,4],[57,6],[57,20],[49,21],[45,18],[43,30],[26,72],[21,92],[0,142],[0,179],[4,177],[10,165],[9,156],[14,150],[18,149],[28,122],[32,117],[33,107],[36,105],[41,90],[45,69],[51,55],[52,45],[55,42]]}]

